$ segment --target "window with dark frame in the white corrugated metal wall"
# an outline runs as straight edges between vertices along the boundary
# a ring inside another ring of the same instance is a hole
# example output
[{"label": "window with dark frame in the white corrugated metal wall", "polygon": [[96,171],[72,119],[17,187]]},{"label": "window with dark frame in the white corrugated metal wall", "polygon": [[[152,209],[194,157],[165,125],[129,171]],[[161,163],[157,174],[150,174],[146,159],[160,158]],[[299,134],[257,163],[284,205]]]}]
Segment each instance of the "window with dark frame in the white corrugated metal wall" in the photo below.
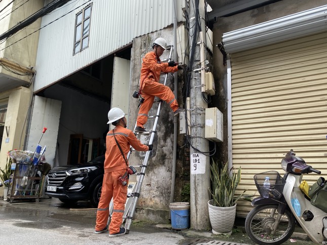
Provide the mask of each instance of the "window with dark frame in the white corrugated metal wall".
[{"label": "window with dark frame in the white corrugated metal wall", "polygon": [[74,54],[89,47],[92,4],[85,7],[76,15]]}]

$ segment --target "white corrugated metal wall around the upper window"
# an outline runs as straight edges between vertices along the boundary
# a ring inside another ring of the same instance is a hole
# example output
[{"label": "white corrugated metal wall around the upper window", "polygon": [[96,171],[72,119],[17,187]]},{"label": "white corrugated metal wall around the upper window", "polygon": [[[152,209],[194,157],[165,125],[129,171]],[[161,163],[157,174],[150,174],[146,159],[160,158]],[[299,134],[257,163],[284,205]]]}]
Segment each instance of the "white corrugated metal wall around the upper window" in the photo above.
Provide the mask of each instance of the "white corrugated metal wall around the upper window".
[{"label": "white corrugated metal wall around the upper window", "polygon": [[[75,17],[89,3],[93,3],[89,48],[72,55]],[[175,13],[177,22],[184,21],[184,4],[184,0],[177,0],[173,11],[172,0],[79,0],[46,15],[41,26],[54,22],[40,31],[34,92],[113,53],[136,36],[172,24]]]}]

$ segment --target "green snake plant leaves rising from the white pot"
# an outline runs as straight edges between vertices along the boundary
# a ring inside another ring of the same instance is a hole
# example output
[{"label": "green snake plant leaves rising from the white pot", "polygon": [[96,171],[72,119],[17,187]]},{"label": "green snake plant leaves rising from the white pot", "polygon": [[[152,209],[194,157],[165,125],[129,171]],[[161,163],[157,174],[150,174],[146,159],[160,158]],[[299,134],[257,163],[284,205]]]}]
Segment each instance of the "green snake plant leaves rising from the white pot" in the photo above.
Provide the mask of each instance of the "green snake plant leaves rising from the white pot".
[{"label": "green snake plant leaves rising from the white pot", "polygon": [[[216,162],[212,161],[210,169],[212,191],[210,188],[209,191],[213,199],[212,205],[217,207],[234,206],[236,201],[240,199],[246,191],[244,190],[240,195],[235,195],[236,188],[241,181],[241,168],[235,173],[234,168],[228,169],[227,163],[223,167],[219,167]],[[244,198],[248,199],[248,197]]]}]

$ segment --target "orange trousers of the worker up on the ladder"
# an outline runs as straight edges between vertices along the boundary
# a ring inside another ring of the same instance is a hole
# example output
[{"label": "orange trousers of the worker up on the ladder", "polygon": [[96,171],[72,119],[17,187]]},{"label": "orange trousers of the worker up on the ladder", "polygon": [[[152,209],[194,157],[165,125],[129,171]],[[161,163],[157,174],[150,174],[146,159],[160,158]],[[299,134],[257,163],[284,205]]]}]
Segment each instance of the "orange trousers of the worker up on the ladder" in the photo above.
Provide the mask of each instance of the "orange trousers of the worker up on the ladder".
[{"label": "orange trousers of the worker up on the ladder", "polygon": [[163,84],[157,83],[153,79],[144,79],[141,88],[141,95],[144,98],[144,102],[139,108],[136,126],[143,127],[143,125],[148,121],[148,112],[153,105],[155,96],[166,101],[172,111],[178,109],[178,103],[171,89]]}]

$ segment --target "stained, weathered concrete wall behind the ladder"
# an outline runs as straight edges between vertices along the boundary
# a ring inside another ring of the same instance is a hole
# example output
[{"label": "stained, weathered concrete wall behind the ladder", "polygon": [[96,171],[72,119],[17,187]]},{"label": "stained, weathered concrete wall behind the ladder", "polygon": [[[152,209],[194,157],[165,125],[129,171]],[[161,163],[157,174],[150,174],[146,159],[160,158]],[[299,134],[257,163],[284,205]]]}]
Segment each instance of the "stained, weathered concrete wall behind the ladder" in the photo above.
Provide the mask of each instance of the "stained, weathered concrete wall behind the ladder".
[{"label": "stained, weathered concrete wall behind the ladder", "polygon": [[[133,129],[138,114],[138,101],[132,98],[132,93],[138,91],[138,83],[140,76],[140,68],[142,57],[152,51],[152,44],[158,37],[166,39],[167,44],[173,44],[173,28],[150,33],[133,39],[132,57],[131,57],[131,78],[130,78],[130,111],[128,128]],[[178,37],[177,37],[178,38]],[[177,39],[178,42],[178,39]],[[160,57],[162,60],[168,58],[169,51],[165,51]],[[176,62],[183,62],[174,57]],[[180,76],[180,72],[178,72]],[[163,76],[161,78],[163,83]],[[178,79],[178,87],[183,87],[183,82]],[[173,75],[168,75],[167,86],[174,90]],[[181,91],[178,91],[179,95]],[[157,98],[156,98],[157,99]],[[183,106],[183,99],[178,98],[178,103]],[[154,103],[149,115],[155,115],[157,112],[158,103]],[[152,129],[154,119],[149,119],[145,125],[146,129]],[[160,118],[157,127],[157,136],[154,141],[154,155],[148,162],[148,168],[144,181],[142,184],[141,195],[138,200],[136,218],[150,219],[157,222],[168,221],[169,203],[170,203],[170,190],[172,180],[172,162],[173,162],[173,113],[169,105],[165,102],[162,103]],[[149,137],[149,136],[147,136]],[[182,136],[178,138],[178,152],[177,152],[177,172],[183,162],[183,154],[180,154],[182,144]],[[142,143],[149,142],[149,138],[142,136]],[[130,165],[140,165],[144,153],[133,152],[129,162]],[[179,175],[177,173],[177,175]],[[135,176],[130,176],[130,182],[135,181]],[[178,183],[177,183],[178,185]],[[176,192],[180,192],[181,186],[176,186]],[[178,194],[177,194],[178,195]]]}]

